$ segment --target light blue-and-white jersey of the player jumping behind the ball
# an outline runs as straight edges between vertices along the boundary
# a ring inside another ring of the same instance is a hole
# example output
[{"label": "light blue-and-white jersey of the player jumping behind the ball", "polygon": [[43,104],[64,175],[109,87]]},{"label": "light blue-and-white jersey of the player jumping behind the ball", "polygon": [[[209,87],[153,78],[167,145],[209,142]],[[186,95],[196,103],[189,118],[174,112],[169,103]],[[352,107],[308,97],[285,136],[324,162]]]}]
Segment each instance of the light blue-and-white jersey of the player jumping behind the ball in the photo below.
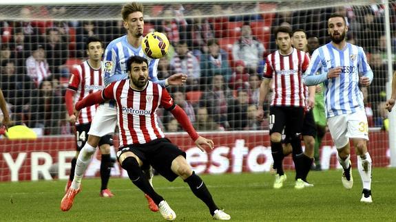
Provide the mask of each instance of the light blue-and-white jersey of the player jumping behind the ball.
[{"label": "light blue-and-white jersey of the player jumping behind the ball", "polygon": [[159,59],[149,58],[143,52],[141,45],[133,47],[127,41],[127,35],[114,39],[105,49],[103,59],[103,81],[105,85],[128,78],[127,60],[131,56],[141,56],[149,62],[149,77],[153,82],[158,81],[157,67]]}]

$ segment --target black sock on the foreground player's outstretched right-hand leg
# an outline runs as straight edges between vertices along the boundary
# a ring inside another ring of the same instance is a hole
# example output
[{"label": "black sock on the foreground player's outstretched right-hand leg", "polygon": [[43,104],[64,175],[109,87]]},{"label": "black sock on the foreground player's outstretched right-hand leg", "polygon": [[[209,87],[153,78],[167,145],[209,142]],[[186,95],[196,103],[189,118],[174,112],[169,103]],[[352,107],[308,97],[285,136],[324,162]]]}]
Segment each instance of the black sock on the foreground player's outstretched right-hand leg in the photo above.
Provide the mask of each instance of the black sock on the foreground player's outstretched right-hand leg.
[{"label": "black sock on the foreground player's outstretched right-hand leg", "polygon": [[206,204],[213,216],[214,211],[219,208],[214,203],[213,198],[202,179],[200,179],[200,177],[193,171],[193,174],[185,179],[185,182],[189,185],[191,191],[194,192],[194,195]]}]

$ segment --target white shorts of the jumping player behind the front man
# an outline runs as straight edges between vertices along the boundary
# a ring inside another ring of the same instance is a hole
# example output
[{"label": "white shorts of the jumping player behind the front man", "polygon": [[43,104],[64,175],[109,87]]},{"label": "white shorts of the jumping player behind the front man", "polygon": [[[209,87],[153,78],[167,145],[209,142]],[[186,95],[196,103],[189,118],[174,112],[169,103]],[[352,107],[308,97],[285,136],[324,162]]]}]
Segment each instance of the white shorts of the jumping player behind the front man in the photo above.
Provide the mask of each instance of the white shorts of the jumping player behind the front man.
[{"label": "white shorts of the jumping player behind the front man", "polygon": [[92,120],[88,135],[103,137],[103,135],[113,134],[116,129],[116,125],[117,108],[114,105],[110,105],[109,102],[105,102],[104,104],[100,104],[98,109],[96,109],[96,114]]}]

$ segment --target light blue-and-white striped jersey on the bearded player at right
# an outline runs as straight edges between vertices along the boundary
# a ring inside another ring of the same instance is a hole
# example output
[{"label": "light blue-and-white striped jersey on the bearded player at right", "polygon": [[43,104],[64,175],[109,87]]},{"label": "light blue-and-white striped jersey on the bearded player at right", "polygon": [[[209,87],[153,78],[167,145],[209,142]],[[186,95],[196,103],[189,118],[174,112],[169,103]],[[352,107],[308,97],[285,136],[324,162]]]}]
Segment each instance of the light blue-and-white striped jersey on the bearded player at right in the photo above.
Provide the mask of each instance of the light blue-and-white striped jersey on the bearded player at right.
[{"label": "light blue-and-white striped jersey on the bearded player at right", "polygon": [[359,73],[366,73],[371,67],[367,63],[363,48],[350,43],[346,43],[342,50],[331,43],[323,45],[313,52],[306,75],[315,75],[317,71],[319,74],[326,74],[335,67],[341,67],[340,76],[324,81],[327,118],[364,111]]}]

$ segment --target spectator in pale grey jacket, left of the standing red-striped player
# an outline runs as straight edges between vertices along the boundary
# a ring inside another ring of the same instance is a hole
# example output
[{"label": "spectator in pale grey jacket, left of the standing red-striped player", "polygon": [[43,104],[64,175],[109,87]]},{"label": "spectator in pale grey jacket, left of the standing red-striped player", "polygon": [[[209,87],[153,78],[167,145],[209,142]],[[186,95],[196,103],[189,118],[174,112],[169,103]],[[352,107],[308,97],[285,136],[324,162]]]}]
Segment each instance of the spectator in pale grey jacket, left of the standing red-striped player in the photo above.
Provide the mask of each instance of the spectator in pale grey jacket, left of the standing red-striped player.
[{"label": "spectator in pale grey jacket, left of the standing red-striped player", "polygon": [[244,23],[242,36],[233,43],[232,56],[234,60],[243,60],[248,69],[258,70],[265,52],[264,45],[251,35],[249,23]]}]

